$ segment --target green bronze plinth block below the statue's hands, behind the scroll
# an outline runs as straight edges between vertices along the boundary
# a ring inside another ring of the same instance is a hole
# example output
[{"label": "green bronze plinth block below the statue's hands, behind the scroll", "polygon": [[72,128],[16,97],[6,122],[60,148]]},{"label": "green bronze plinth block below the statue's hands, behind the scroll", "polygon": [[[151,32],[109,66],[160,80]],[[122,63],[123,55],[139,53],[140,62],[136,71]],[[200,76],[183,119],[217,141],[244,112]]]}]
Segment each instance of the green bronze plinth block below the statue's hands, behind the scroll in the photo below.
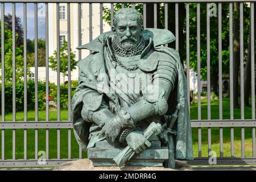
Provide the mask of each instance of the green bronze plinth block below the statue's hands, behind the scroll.
[{"label": "green bronze plinth block below the statue's hands, behind the scroll", "polygon": [[[93,166],[117,166],[113,158],[122,150],[123,148],[113,146],[105,140],[97,142],[96,147],[88,148],[88,158],[92,160]],[[163,167],[163,162],[167,159],[168,148],[161,147],[160,141],[152,141],[150,148],[135,154],[125,165]]]}]

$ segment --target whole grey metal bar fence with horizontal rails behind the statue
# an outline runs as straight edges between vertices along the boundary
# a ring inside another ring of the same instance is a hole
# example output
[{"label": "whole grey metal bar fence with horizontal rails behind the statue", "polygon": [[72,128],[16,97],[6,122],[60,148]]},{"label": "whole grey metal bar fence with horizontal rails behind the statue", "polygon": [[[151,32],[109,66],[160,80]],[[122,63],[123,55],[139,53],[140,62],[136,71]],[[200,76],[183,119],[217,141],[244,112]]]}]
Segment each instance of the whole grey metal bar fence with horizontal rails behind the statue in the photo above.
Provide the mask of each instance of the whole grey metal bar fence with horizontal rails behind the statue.
[{"label": "whole grey metal bar fence with horizontal rails behind the statue", "polygon": [[[5,16],[5,3],[11,2],[12,3],[12,10],[15,12],[15,3],[22,2],[23,3],[23,13],[24,17],[26,17],[27,14],[27,3],[34,1],[31,0],[17,0],[17,1],[11,1],[11,0],[2,0],[1,2],[1,47],[2,47],[2,121],[0,122],[0,128],[1,128],[1,135],[2,135],[2,141],[1,141],[1,154],[2,154],[2,159],[0,160],[0,167],[43,167],[43,166],[57,166],[61,163],[70,161],[70,160],[75,160],[77,158],[72,158],[71,155],[71,138],[72,138],[72,122],[71,122],[71,64],[70,64],[70,54],[68,57],[69,63],[68,63],[68,121],[61,121],[61,111],[60,111],[60,40],[59,40],[59,35],[60,35],[60,21],[59,21],[59,3],[67,3],[67,24],[68,24],[68,51],[71,51],[71,18],[70,18],[70,5],[71,3],[78,3],[79,6],[79,18],[78,20],[75,19],[75,21],[78,21],[79,24],[79,38],[78,38],[78,45],[81,45],[81,3],[89,3],[89,40],[92,40],[92,3],[100,3],[100,32],[102,33],[103,28],[102,28],[102,8],[103,8],[103,3],[111,3],[111,18],[112,18],[112,24],[113,24],[113,8],[114,8],[114,3],[113,1],[108,1],[108,0],[87,0],[87,1],[58,1],[58,0],[44,0],[42,1],[43,3],[46,3],[46,121],[39,121],[38,115],[38,19],[35,18],[35,121],[28,121],[27,119],[27,22],[26,18],[24,18],[24,121],[22,122],[16,122],[16,107],[15,107],[15,98],[16,98],[16,92],[15,92],[15,16],[13,16],[13,121],[11,122],[6,122],[5,121],[5,49],[4,47],[4,16]],[[118,1],[119,2],[119,1]],[[125,2],[130,2],[133,3],[134,1],[121,1],[122,7],[124,6]],[[196,1],[171,1],[171,0],[163,0],[162,3],[164,3],[164,24],[165,27],[168,28],[168,5],[169,3],[175,3],[175,36],[176,36],[176,42],[175,42],[175,47],[176,49],[179,49],[179,3],[184,3],[186,2],[186,52],[187,52],[187,67],[189,67],[189,3],[197,3],[197,71],[200,73],[200,4],[201,3],[207,3],[207,9],[209,10],[209,3],[210,2],[216,2],[218,3],[218,14],[221,14],[221,7],[222,7],[222,1],[203,1],[203,0],[196,0]],[[240,8],[241,8],[241,13],[240,13],[240,45],[241,45],[241,50],[243,50],[243,3],[247,1],[225,1],[226,3],[229,3],[229,30],[232,30],[233,28],[233,2],[241,2],[240,3]],[[255,1],[249,1],[250,5],[254,5]],[[57,121],[49,121],[49,52],[48,52],[48,45],[49,45],[49,34],[48,34],[48,23],[49,23],[49,18],[48,17],[48,3],[56,3],[56,18],[57,18],[57,24],[56,24],[56,38],[57,38]],[[143,20],[144,20],[144,27],[147,27],[146,24],[146,3],[154,3],[154,27],[157,27],[157,6],[156,3],[159,3],[159,1],[156,0],[143,0],[141,1],[143,3]],[[38,17],[38,3],[34,3],[34,16]],[[210,80],[210,18],[209,14],[207,14],[207,80]],[[221,16],[218,16],[218,82],[219,85],[222,85],[222,39],[221,39],[221,33],[222,33],[222,23],[221,23]],[[251,32],[251,85],[255,85],[255,72],[254,72],[254,6],[250,6],[250,32]],[[226,25],[224,25],[226,26]],[[229,32],[229,45],[230,45],[230,60],[233,60],[233,32]],[[241,65],[243,65],[243,51],[241,53]],[[81,50],[79,51],[79,60],[81,59]],[[230,61],[230,98],[233,97],[233,61]],[[189,69],[187,71],[187,74],[189,75]],[[217,164],[256,164],[256,153],[255,153],[255,127],[256,127],[256,120],[255,120],[255,88],[254,86],[251,86],[251,119],[245,119],[245,106],[243,105],[243,69],[241,68],[240,70],[240,76],[241,76],[241,119],[234,119],[234,108],[233,108],[233,100],[230,99],[230,119],[222,119],[222,89],[221,86],[219,86],[219,119],[218,120],[213,120],[211,119],[211,105],[210,105],[210,83],[208,82],[207,84],[207,113],[208,113],[208,118],[207,120],[201,119],[201,97],[200,97],[200,89],[198,90],[198,109],[197,109],[197,114],[198,114],[198,120],[193,120],[192,127],[195,127],[197,129],[197,137],[198,137],[198,157],[195,158],[195,160],[188,162],[189,164],[209,164],[209,156],[208,157],[203,157],[202,156],[202,130],[204,128],[207,129],[207,138],[208,138],[208,151],[212,150],[212,128],[217,127],[220,132],[220,156],[217,157]],[[189,85],[189,76],[187,76],[187,82]],[[200,88],[200,76],[198,76],[198,88]],[[188,86],[189,88],[189,86]],[[189,91],[189,90],[188,90]],[[189,92],[188,92],[189,93]],[[188,95],[189,97],[189,95]],[[11,104],[11,103],[10,103]],[[230,129],[230,149],[231,149],[231,154],[229,157],[224,157],[224,146],[223,146],[223,129],[227,127]],[[241,157],[235,157],[234,156],[234,129],[236,127],[241,127]],[[245,157],[245,128],[249,127],[251,128],[251,142],[252,142],[252,156],[251,157]],[[5,138],[6,130],[12,130],[12,150],[13,150],[13,158],[12,159],[6,159],[5,156],[5,141],[8,138]],[[24,142],[23,142],[23,159],[16,159],[16,130],[22,129],[24,131]],[[27,130],[33,129],[35,131],[35,141],[34,141],[34,146],[35,146],[35,157],[34,159],[27,159],[27,146],[30,143],[27,143]],[[46,135],[46,163],[42,164],[39,162],[38,159],[38,136],[39,133],[38,131],[40,129],[46,130],[45,135]],[[49,137],[49,130],[51,129],[56,129],[57,130],[57,157],[56,159],[52,158],[49,159],[49,150],[52,148],[49,148],[49,142],[51,142],[51,138]],[[61,134],[60,130],[61,129],[67,129],[68,130],[68,157],[67,159],[61,159],[60,157],[60,152],[61,152],[61,147],[60,147],[60,140],[61,140]],[[82,158],[82,151],[81,148],[79,148],[79,158]]]}]

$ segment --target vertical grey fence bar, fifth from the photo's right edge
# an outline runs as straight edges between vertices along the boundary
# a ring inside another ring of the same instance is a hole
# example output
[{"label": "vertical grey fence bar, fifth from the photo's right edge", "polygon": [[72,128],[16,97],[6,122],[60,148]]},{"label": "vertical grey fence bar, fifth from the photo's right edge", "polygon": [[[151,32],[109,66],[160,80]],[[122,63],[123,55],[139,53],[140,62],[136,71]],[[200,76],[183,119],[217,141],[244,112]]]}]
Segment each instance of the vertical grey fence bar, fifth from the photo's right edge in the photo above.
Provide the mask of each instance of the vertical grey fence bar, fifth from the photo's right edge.
[{"label": "vertical grey fence bar, fifth from the photo's right edge", "polygon": [[[210,120],[210,4],[207,3],[207,119]],[[208,156],[212,150],[212,129],[208,127]]]}]

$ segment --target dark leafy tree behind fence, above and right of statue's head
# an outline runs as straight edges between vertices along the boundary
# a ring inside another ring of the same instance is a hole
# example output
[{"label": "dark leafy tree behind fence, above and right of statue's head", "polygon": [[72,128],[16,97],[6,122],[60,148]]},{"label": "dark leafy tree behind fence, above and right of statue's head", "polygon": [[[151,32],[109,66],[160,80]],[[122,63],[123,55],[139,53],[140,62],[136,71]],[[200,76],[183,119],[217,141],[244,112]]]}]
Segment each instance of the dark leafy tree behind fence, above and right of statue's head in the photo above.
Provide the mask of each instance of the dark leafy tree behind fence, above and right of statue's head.
[{"label": "dark leafy tree behind fence, above and right of statue's head", "polygon": [[[249,36],[249,26],[250,26],[250,9],[246,3],[243,4],[243,20],[244,20],[244,30],[243,36],[247,38]],[[125,3],[125,7],[131,7],[131,5]],[[179,3],[179,53],[181,58],[181,63],[187,63],[186,59],[186,22],[185,22],[185,6],[186,3]],[[119,8],[121,4],[117,3],[114,6],[114,13]],[[147,27],[154,27],[154,5],[152,3],[147,3]],[[140,13],[143,13],[143,5],[136,4],[135,9]],[[110,24],[111,14],[108,7],[104,7],[104,20]],[[158,28],[164,28],[164,5],[163,3],[158,3]],[[236,26],[239,14],[234,11],[234,25]],[[168,30],[175,34],[175,3],[168,3]],[[236,29],[237,30],[237,29]],[[239,34],[239,32],[236,35]],[[207,80],[207,4],[200,4],[200,75],[202,80]],[[239,42],[236,38],[234,43]],[[189,3],[189,63],[190,68],[197,72],[197,3]],[[247,47],[248,43],[244,42],[244,47]],[[175,48],[175,42],[168,45],[169,47]],[[238,45],[239,46],[239,45]],[[245,52],[245,51],[244,51]],[[235,51],[234,53],[239,53]],[[246,52],[244,53],[244,55]],[[238,54],[238,59],[234,60],[240,62],[240,57]],[[234,64],[233,64],[234,65]],[[235,77],[238,82],[238,72],[239,65],[235,65],[234,69]],[[229,74],[229,3],[222,3],[222,73]],[[218,17],[210,17],[210,82],[212,86],[212,91],[218,93]],[[222,85],[219,85],[222,86]],[[236,95],[239,93],[238,84],[235,86]],[[237,95],[238,96],[238,95]]]}]

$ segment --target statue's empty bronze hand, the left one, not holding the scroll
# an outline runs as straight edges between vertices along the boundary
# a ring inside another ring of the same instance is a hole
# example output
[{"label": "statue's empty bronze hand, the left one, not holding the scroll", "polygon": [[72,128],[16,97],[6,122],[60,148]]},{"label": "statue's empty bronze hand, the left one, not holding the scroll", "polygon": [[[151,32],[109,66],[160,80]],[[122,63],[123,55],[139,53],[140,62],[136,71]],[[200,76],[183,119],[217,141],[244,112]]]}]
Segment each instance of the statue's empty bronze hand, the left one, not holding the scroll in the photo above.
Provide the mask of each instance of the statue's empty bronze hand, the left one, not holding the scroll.
[{"label": "statue's empty bronze hand, the left one, not holding the scroll", "polygon": [[102,127],[100,136],[105,137],[106,140],[110,140],[112,142],[118,137],[122,127],[117,125],[114,121],[115,118],[110,118],[108,121],[105,121],[104,126]]}]

